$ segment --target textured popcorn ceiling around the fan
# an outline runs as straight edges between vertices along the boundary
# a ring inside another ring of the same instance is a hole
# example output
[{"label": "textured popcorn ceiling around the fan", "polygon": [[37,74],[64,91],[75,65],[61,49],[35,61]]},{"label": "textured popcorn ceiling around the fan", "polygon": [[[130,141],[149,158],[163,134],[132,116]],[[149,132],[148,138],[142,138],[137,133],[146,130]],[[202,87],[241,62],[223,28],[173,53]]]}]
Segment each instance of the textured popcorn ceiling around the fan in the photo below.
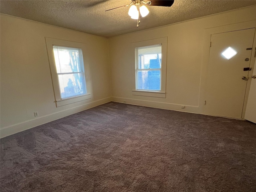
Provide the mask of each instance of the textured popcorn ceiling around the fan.
[{"label": "textured popcorn ceiling around the fan", "polygon": [[113,37],[228,10],[256,5],[256,0],[175,0],[171,7],[148,6],[137,21],[128,16],[130,0],[0,0],[0,12],[102,37]]}]

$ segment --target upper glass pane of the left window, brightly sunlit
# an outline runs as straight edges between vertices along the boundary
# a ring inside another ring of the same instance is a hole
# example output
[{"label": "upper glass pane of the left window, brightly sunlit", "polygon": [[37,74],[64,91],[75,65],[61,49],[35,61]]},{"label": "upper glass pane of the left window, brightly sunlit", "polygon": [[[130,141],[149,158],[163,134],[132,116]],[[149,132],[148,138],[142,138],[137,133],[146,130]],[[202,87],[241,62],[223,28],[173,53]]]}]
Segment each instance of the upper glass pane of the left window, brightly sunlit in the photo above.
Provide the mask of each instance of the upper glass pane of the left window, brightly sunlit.
[{"label": "upper glass pane of the left window, brightly sunlit", "polygon": [[57,73],[81,72],[82,51],[78,48],[53,46]]}]

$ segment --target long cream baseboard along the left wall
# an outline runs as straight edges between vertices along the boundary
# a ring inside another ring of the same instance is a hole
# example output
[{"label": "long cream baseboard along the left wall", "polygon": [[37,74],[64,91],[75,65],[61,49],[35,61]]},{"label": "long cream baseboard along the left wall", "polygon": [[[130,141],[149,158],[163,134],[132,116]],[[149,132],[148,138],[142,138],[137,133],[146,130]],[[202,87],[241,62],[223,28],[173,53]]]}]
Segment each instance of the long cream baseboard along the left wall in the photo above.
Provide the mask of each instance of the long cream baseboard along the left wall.
[{"label": "long cream baseboard along the left wall", "polygon": [[15,134],[15,133],[18,133],[18,132],[21,132],[21,131],[24,131],[24,130],[27,130],[27,129],[30,129],[30,128],[33,128],[33,127],[36,127],[36,126],[39,126],[39,125],[42,125],[42,124],[45,124],[45,123],[48,123],[48,122],[66,117],[66,116],[69,116],[69,115],[72,115],[72,114],[75,114],[75,113],[78,113],[78,112],[81,112],[81,111],[84,111],[84,110],[102,105],[104,103],[108,103],[110,101],[111,101],[111,97],[108,97],[108,98],[96,100],[96,101],[93,101],[93,102],[90,102],[90,103],[86,103],[86,104],[81,105],[81,106],[77,106],[77,107],[74,107],[74,108],[63,110],[63,111],[60,111],[60,112],[48,114],[46,116],[42,116],[42,117],[39,117],[39,118],[36,118],[36,119],[32,119],[32,120],[28,120],[28,121],[25,121],[25,122],[22,122],[22,123],[18,123],[18,124],[14,124],[14,125],[11,125],[11,126],[3,127],[0,130],[0,138],[4,138],[6,136],[9,136],[9,135],[12,135],[12,134]]}]

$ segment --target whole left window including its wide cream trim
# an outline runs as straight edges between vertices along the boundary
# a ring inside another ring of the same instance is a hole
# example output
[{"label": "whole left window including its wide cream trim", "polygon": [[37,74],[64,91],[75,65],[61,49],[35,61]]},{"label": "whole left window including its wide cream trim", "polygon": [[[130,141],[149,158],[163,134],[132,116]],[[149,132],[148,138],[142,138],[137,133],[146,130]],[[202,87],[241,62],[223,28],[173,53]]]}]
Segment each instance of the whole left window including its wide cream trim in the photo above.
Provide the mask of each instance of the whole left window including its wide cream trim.
[{"label": "whole left window including its wide cream trim", "polygon": [[90,99],[92,88],[87,84],[90,73],[85,54],[88,47],[79,42],[45,39],[56,107]]}]

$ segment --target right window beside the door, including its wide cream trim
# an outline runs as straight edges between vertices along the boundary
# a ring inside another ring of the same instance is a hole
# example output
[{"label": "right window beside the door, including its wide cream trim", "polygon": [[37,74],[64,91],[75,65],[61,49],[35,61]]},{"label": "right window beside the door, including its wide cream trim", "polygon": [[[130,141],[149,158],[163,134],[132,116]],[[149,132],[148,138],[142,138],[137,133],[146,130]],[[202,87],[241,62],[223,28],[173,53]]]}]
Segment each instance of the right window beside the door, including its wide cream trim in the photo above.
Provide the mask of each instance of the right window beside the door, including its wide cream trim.
[{"label": "right window beside the door, including its wide cream trim", "polygon": [[167,37],[132,43],[132,95],[166,97]]}]

